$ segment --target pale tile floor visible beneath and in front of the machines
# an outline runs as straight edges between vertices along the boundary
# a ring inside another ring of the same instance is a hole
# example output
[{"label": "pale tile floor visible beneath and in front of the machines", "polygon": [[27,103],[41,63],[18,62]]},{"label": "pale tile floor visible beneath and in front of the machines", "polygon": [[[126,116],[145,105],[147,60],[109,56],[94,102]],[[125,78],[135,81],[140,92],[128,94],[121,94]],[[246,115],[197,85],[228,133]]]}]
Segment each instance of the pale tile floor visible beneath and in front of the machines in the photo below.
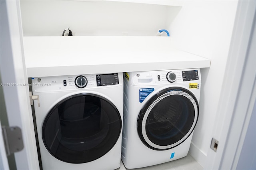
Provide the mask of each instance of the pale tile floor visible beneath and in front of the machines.
[{"label": "pale tile floor visible beneath and in front of the machines", "polygon": [[[136,170],[203,170],[204,168],[190,155],[188,154],[184,158],[173,160],[163,164],[154,166],[148,166],[145,168],[137,168]],[[121,161],[120,168],[116,170],[126,170],[123,162]]]}]

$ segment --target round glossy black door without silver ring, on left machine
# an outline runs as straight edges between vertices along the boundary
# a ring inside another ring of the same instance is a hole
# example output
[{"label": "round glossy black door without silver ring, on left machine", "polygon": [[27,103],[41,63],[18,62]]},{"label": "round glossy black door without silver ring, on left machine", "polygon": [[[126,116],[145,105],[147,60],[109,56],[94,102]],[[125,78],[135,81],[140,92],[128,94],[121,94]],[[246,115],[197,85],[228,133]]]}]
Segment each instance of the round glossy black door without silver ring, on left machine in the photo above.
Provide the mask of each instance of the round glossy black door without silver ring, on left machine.
[{"label": "round glossy black door without silver ring, on left machine", "polygon": [[42,139],[55,158],[85,163],[106,154],[122,128],[118,109],[104,97],[77,94],[57,103],[46,116]]}]

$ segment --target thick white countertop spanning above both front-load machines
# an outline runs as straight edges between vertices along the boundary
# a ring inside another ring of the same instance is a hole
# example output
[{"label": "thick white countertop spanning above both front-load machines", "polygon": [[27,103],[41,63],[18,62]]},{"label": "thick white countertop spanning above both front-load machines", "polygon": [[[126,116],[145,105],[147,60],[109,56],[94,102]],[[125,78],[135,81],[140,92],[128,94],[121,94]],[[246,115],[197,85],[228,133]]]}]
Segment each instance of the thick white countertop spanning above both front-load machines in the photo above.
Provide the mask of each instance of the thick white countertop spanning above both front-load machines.
[{"label": "thick white countertop spanning above both front-load machines", "polygon": [[210,67],[170,46],[170,37],[24,37],[28,77]]}]

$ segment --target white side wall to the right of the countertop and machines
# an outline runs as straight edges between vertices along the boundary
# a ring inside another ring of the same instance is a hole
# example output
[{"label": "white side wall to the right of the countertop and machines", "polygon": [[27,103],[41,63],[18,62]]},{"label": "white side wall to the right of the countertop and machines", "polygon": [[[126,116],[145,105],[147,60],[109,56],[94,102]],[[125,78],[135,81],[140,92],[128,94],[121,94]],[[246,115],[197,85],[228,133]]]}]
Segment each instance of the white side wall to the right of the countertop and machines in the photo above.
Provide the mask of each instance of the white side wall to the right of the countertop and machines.
[{"label": "white side wall to the right of the countertop and machines", "polygon": [[237,1],[184,1],[169,27],[173,46],[211,59],[210,68],[201,69],[200,113],[190,148],[190,154],[202,166],[214,137],[211,135],[237,4]]}]

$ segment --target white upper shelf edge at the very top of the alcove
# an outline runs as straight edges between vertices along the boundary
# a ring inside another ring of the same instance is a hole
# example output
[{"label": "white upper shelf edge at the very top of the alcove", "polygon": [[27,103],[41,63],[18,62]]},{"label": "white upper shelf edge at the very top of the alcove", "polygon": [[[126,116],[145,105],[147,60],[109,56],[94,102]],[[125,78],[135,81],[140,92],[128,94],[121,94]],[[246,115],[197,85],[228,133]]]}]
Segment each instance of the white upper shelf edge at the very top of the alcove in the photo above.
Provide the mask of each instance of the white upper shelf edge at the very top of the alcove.
[{"label": "white upper shelf edge at the very top of the alcove", "polygon": [[85,2],[112,1],[112,2],[130,2],[130,3],[140,3],[140,4],[166,5],[166,6],[182,6],[183,5],[183,2],[181,0],[73,0],[73,1],[85,1]]}]

